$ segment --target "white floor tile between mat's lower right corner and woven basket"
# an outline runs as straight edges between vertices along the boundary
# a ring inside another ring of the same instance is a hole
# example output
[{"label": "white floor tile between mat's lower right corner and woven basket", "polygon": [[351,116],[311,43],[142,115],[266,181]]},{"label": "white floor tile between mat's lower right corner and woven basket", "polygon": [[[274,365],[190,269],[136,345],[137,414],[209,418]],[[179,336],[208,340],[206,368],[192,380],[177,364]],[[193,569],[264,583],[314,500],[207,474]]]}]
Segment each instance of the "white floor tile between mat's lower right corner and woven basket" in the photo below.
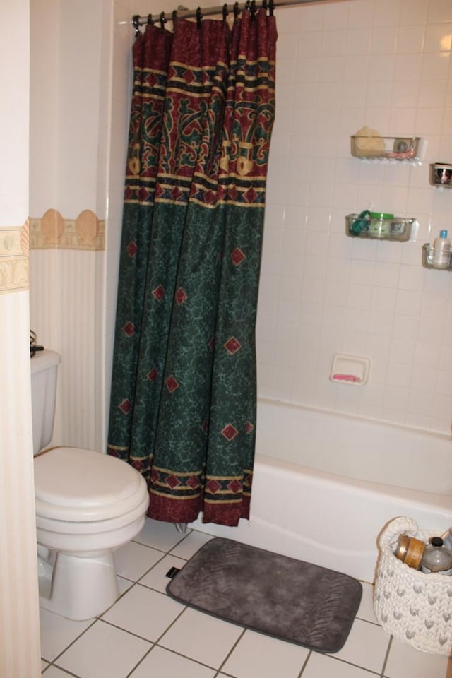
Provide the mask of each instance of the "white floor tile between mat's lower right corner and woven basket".
[{"label": "white floor tile between mat's lower right corner and woven basket", "polygon": [[388,649],[389,638],[390,636],[381,629],[381,626],[355,619],[345,646],[334,656],[380,673]]}]

